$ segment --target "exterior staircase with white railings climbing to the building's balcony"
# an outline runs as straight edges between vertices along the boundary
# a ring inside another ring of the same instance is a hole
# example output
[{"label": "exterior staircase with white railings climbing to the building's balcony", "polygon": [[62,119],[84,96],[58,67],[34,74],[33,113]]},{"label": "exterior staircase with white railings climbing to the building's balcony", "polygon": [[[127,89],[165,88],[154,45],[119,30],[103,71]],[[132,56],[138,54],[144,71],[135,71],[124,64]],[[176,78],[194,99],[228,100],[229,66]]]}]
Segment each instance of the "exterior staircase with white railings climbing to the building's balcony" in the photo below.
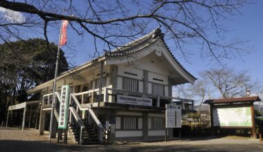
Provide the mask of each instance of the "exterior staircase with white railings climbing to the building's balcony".
[{"label": "exterior staircase with white railings climbing to the building's balcony", "polygon": [[[75,95],[72,95],[72,100],[69,104],[69,125],[68,125],[68,140],[76,144],[100,144],[103,139],[103,131],[105,130],[98,120],[98,117],[90,108],[82,108]],[[60,95],[57,95],[57,102],[55,103],[54,115],[59,120],[60,113]],[[90,120],[82,120],[80,118],[80,111],[89,111],[91,115]]]}]

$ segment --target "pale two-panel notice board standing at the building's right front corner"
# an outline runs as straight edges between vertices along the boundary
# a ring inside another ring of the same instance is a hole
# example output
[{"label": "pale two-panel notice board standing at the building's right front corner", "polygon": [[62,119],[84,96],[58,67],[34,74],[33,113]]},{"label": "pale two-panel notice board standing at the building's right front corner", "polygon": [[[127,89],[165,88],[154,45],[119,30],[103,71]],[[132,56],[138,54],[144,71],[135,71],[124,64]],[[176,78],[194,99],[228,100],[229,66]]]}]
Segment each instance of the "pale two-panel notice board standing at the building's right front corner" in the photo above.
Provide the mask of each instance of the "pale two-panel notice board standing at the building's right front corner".
[{"label": "pale two-panel notice board standing at the building's right front corner", "polygon": [[165,104],[165,127],[181,128],[181,106]]}]

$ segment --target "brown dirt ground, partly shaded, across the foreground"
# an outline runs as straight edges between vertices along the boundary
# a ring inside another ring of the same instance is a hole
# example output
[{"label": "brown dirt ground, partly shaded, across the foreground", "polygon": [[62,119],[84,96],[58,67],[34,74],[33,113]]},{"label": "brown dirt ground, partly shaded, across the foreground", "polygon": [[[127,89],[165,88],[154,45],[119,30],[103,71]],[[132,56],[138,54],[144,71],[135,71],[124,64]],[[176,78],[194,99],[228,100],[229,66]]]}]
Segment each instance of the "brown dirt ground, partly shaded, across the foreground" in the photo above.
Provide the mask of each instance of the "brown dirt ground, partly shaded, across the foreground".
[{"label": "brown dirt ground, partly shaded, across the foreground", "polygon": [[263,143],[248,137],[199,137],[169,142],[118,142],[109,145],[57,144],[35,129],[0,127],[0,151],[263,151]]}]

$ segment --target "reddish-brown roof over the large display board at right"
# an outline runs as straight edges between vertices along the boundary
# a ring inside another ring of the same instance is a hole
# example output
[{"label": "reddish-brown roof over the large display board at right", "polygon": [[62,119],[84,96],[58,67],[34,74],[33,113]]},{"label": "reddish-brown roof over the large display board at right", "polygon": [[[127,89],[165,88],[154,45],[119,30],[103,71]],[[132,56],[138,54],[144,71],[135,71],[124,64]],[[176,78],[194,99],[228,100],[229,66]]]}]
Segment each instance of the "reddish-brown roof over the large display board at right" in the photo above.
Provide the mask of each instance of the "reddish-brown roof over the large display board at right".
[{"label": "reddish-brown roof over the large display board at right", "polygon": [[260,97],[235,97],[228,99],[207,99],[204,104],[227,104],[227,103],[235,103],[235,102],[261,102]]}]

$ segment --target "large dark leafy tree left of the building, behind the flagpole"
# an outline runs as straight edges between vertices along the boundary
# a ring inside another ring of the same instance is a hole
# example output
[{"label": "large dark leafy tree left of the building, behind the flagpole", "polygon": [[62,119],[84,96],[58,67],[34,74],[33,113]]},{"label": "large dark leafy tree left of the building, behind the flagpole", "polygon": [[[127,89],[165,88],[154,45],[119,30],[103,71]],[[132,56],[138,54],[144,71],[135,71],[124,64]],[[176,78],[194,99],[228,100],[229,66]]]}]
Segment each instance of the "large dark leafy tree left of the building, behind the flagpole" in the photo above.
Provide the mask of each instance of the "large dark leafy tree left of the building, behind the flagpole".
[{"label": "large dark leafy tree left of the building, behind the flagpole", "polygon": [[[66,57],[60,50],[60,72],[68,69]],[[55,75],[57,46],[46,46],[44,39],[28,39],[0,45],[0,118],[15,102],[24,102],[26,91]]]}]

